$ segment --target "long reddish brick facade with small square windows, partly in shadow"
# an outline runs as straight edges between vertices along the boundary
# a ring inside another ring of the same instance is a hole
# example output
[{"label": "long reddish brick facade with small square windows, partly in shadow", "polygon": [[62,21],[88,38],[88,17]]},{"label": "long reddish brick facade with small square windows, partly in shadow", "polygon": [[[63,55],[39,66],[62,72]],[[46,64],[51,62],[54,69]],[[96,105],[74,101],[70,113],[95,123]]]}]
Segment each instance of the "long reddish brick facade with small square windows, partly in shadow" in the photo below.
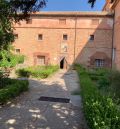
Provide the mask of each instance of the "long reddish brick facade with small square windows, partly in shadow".
[{"label": "long reddish brick facade with small square windows, partly in shadow", "polygon": [[[37,57],[44,56],[46,65],[60,65],[65,58],[68,66],[81,63],[93,67],[93,59],[105,55],[107,67],[111,66],[112,13],[41,12],[32,14],[31,19],[30,24],[16,24],[14,32],[18,38],[13,46],[26,56],[25,65],[37,65]],[[102,54],[95,58],[96,53]]]}]

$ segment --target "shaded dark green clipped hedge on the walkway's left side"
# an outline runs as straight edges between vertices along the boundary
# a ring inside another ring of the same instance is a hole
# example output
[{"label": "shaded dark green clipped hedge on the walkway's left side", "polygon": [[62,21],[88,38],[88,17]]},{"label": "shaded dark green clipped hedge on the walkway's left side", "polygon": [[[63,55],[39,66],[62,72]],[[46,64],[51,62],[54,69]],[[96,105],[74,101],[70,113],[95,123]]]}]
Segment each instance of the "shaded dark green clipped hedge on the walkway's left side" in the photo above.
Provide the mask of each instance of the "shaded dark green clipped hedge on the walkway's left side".
[{"label": "shaded dark green clipped hedge on the walkway's left side", "polygon": [[6,79],[6,81],[7,85],[0,89],[0,104],[4,104],[28,90],[29,83],[27,80]]}]

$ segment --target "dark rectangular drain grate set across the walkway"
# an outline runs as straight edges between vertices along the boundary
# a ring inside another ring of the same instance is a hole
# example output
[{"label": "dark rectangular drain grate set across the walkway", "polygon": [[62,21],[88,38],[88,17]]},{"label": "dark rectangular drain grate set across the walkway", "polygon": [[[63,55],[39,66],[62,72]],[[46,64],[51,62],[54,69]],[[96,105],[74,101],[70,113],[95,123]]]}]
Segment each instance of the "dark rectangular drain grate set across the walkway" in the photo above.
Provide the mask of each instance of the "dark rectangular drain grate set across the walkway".
[{"label": "dark rectangular drain grate set across the walkway", "polygon": [[41,96],[39,98],[40,101],[49,101],[49,102],[59,102],[59,103],[69,103],[70,99],[67,98],[55,98],[55,97],[46,97]]}]

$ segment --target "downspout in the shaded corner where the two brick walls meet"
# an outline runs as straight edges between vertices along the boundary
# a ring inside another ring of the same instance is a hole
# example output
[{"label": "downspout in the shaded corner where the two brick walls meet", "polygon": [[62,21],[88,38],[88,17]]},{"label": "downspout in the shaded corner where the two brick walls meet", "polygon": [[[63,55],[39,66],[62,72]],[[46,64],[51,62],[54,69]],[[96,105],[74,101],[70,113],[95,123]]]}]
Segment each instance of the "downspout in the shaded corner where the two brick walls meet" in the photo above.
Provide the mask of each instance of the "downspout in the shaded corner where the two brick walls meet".
[{"label": "downspout in the shaded corner where the two brick walls meet", "polygon": [[115,10],[114,10],[114,17],[113,17],[113,30],[112,30],[111,68],[113,68],[114,32],[115,32]]}]

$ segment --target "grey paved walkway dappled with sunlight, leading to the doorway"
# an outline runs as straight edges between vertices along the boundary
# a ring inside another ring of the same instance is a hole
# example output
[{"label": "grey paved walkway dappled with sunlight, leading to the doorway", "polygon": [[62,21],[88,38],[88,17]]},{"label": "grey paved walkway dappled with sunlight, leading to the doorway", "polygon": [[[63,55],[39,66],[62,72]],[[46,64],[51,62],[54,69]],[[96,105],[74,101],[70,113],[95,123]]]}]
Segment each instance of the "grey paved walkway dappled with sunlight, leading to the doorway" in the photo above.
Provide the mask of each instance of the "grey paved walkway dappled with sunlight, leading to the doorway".
[{"label": "grey paved walkway dappled with sunlight, leading to the doorway", "polygon": [[[46,80],[30,79],[30,90],[0,107],[0,129],[85,129],[75,71],[60,70]],[[70,103],[39,101],[40,96],[70,98]]]}]

